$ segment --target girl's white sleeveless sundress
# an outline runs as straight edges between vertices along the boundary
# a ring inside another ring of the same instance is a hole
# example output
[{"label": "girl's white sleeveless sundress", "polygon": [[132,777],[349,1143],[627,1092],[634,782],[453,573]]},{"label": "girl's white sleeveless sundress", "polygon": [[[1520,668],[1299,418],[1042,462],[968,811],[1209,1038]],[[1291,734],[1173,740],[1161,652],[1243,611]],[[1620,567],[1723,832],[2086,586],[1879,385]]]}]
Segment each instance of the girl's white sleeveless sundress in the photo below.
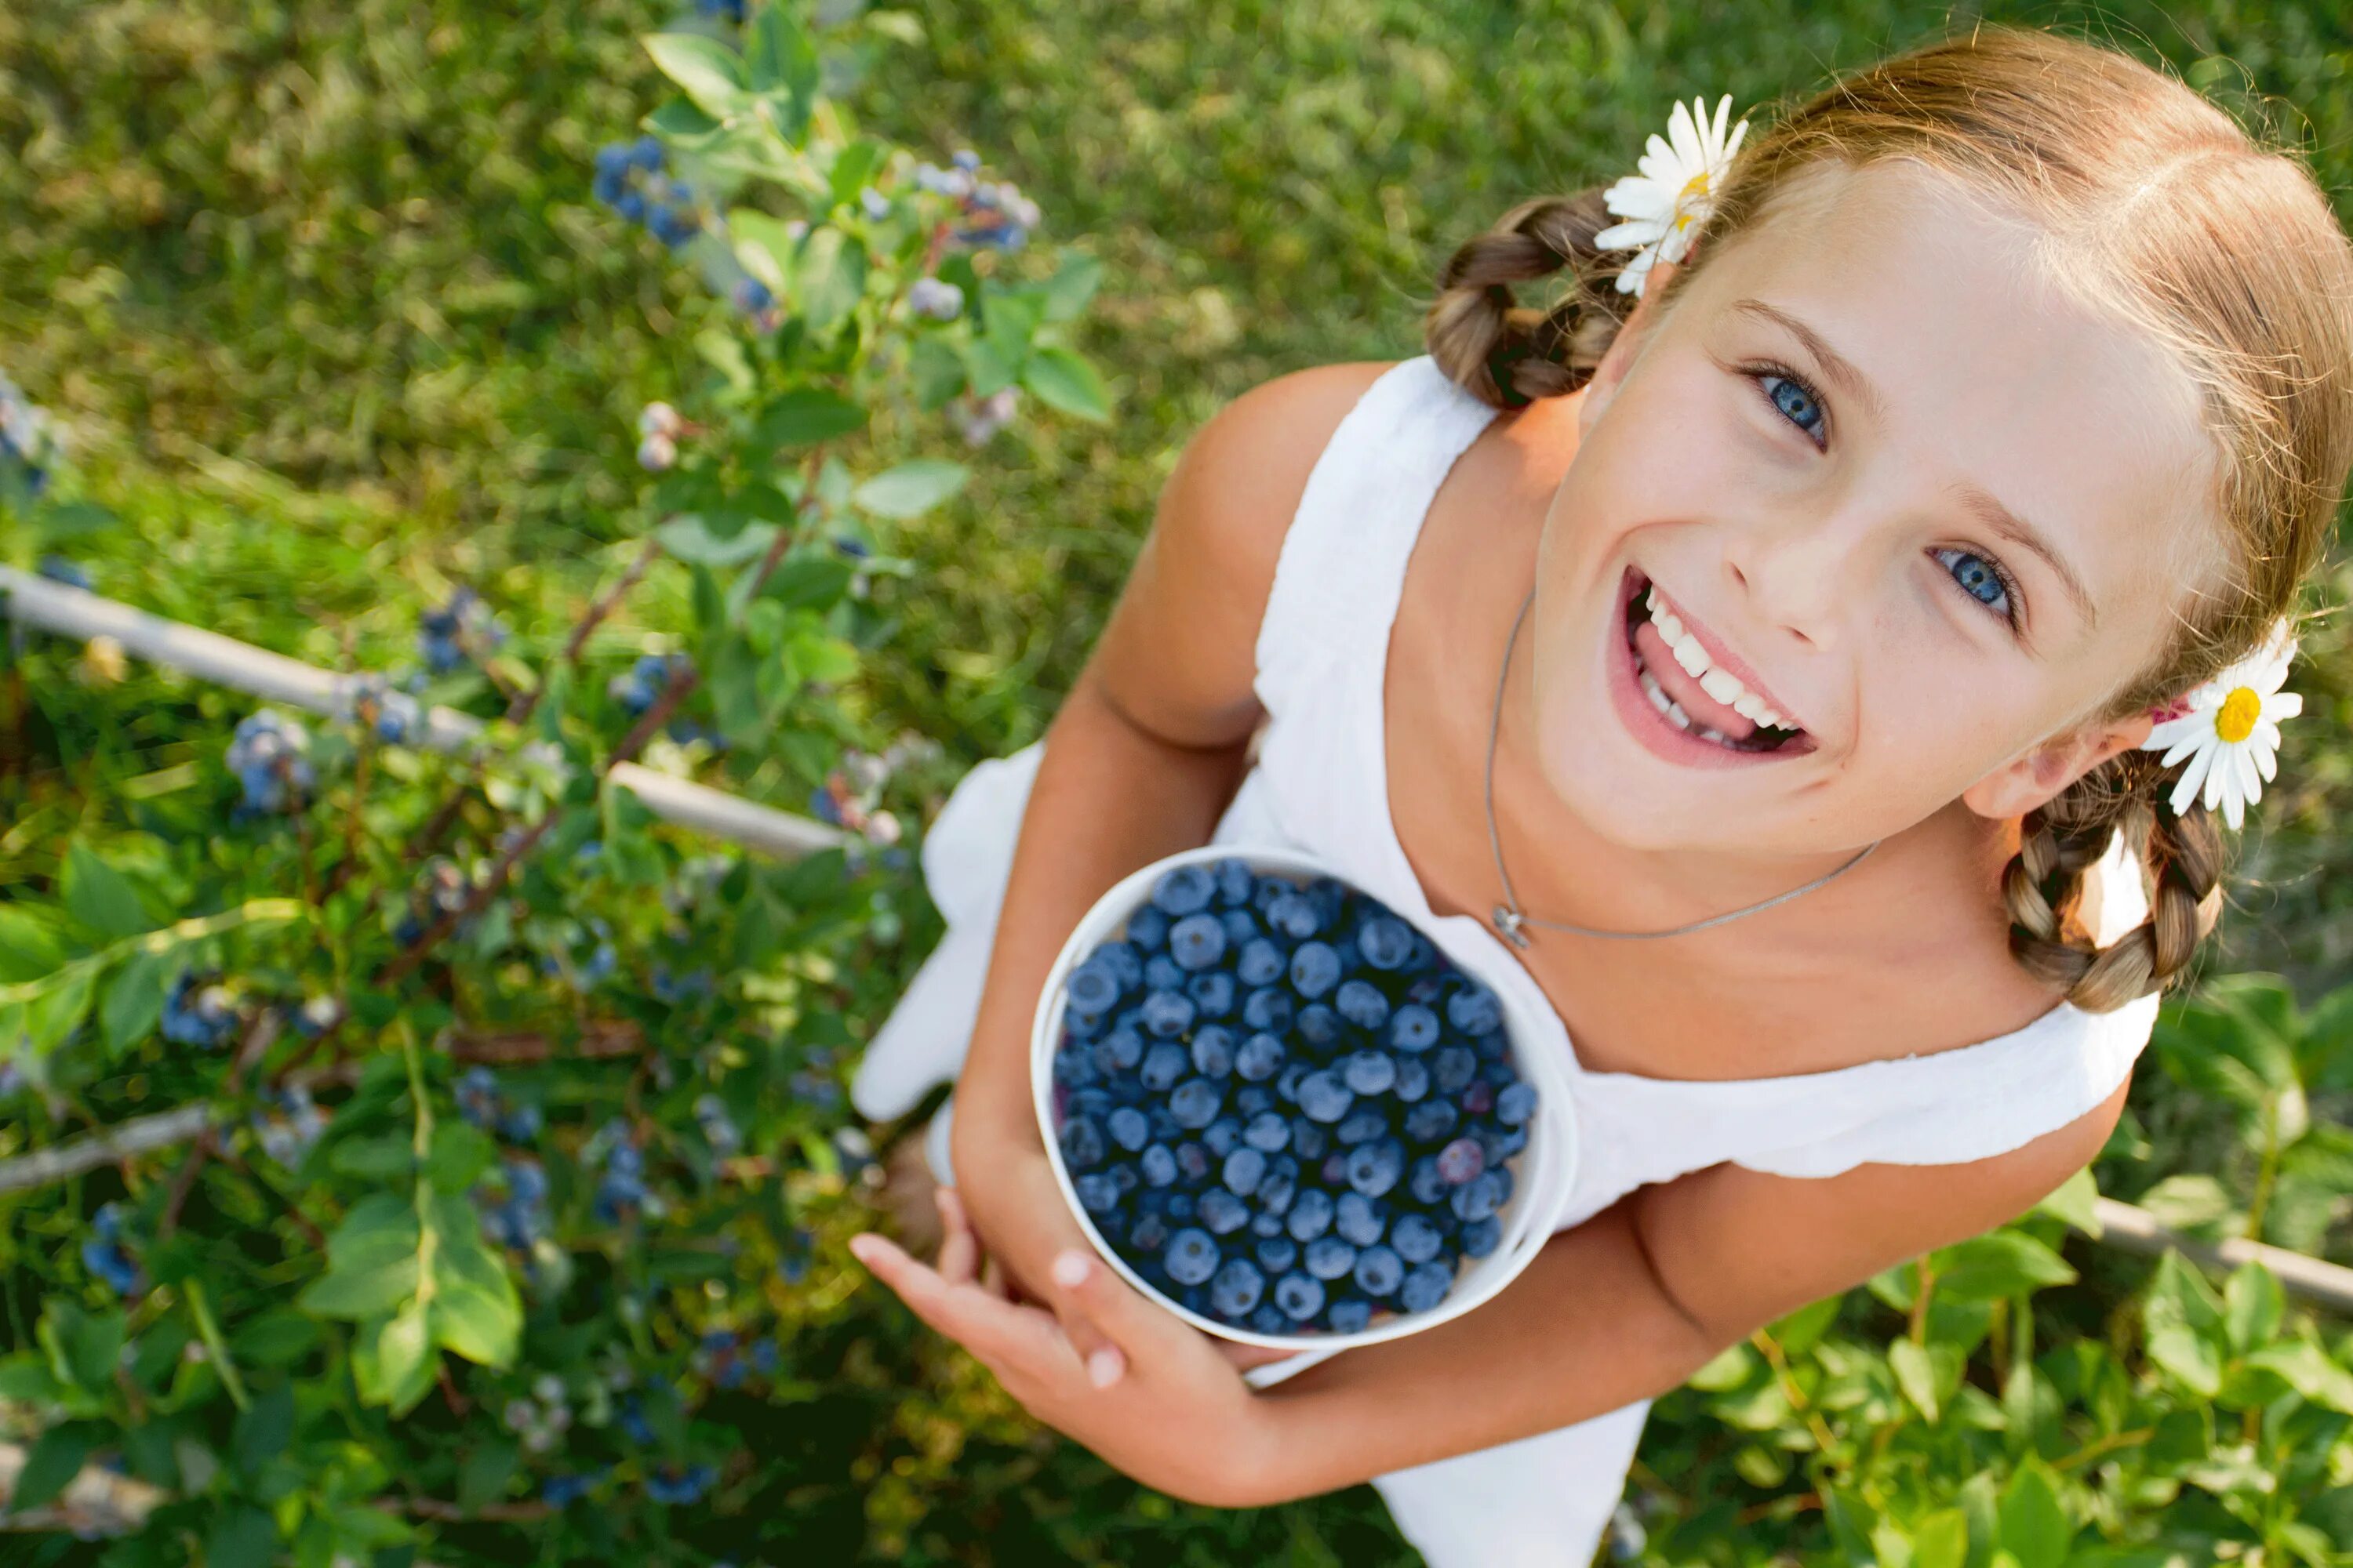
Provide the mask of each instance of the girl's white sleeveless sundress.
[{"label": "girl's white sleeveless sundress", "polygon": [[[2158,997],[2113,1013],[2059,1004],[1972,1046],[1767,1079],[1692,1081],[1588,1072],[1511,947],[1471,914],[1433,914],[1388,813],[1381,684],[1405,564],[1431,498],[1494,409],[1428,357],[1384,371],[1341,418],[1282,541],[1257,642],[1266,710],[1257,757],[1214,844],[1287,844],[1412,919],[1464,971],[1513,992],[1558,1053],[1581,1135],[1569,1229],[1645,1182],[1718,1161],[1838,1175],[1864,1161],[1960,1164],[2014,1150],[2106,1100],[2148,1044]],[[976,764],[922,842],[948,933],[875,1034],[852,1084],[871,1121],[904,1117],[962,1070],[1014,839],[1042,741]],[[2099,940],[2146,912],[2122,839],[2099,863]],[[2139,870],[2134,865],[2134,870]],[[948,1171],[948,1107],[927,1128]],[[1252,1373],[1266,1385],[1325,1354]],[[1374,1486],[1431,1568],[1584,1568],[1624,1490],[1649,1399],[1529,1439],[1417,1465]]]}]

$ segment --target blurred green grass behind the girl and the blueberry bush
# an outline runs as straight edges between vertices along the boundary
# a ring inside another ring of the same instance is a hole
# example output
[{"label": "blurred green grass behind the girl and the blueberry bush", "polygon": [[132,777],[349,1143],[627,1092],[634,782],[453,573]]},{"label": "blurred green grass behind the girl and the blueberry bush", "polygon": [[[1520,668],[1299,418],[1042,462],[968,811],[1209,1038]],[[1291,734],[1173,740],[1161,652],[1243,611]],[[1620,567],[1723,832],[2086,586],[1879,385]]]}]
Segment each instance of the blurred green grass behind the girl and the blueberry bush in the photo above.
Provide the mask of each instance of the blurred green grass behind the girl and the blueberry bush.
[{"label": "blurred green grass behind the girl and the blueberry bush", "polygon": [[[136,520],[101,545],[101,592],[339,665],[407,646],[454,581],[515,623],[558,625],[612,576],[647,522],[635,411],[701,374],[678,317],[699,284],[588,200],[595,146],[661,96],[638,33],[671,14],[0,7],[0,367],[73,425],[94,494]],[[1419,353],[1454,244],[1520,197],[1614,179],[1678,96],[1729,92],[1765,118],[1972,19],[2031,21],[2162,61],[2268,125],[2341,209],[2353,174],[2353,19],[2320,2],[892,14],[847,101],[932,158],[981,148],[1042,205],[1047,235],[1087,237],[1108,273],[1085,350],[1120,400],[1104,428],[1012,425],[965,496],[889,538],[920,569],[873,585],[896,625],[859,698],[955,762],[1052,717],[1212,409],[1306,364]],[[946,425],[922,440],[962,454]],[[2339,552],[2329,602],[2348,588]],[[2308,644],[2311,719],[2245,835],[2214,957],[2306,994],[2353,971],[2348,642],[2337,616]],[[153,745],[162,764],[179,741]],[[911,922],[908,966],[934,931]],[[927,1399],[901,1413],[911,1450],[892,1474],[911,1490],[920,1476],[927,1530],[969,1530],[995,1561],[1412,1561],[1362,1488],[1209,1516],[1040,1443],[1002,1401],[974,1427],[972,1401],[951,1420]]]}]

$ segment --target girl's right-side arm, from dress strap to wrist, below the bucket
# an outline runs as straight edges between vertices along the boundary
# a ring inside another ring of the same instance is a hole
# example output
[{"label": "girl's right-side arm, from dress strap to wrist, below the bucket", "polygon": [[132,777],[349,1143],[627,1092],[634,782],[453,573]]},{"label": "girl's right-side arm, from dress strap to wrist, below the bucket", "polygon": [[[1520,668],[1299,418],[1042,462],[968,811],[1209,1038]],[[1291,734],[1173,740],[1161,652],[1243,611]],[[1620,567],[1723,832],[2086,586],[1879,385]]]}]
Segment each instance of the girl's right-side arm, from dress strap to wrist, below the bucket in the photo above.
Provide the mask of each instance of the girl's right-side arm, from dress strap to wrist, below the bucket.
[{"label": "girl's right-side arm, from dress strap to wrist, below the bucket", "polygon": [[1308,1497],[1664,1394],[1751,1331],[2017,1218],[2099,1154],[2127,1093],[2129,1079],[1993,1159],[1826,1178],[1718,1164],[1635,1187],[1475,1312],[1264,1389],[1264,1460],[1235,1502]]}]

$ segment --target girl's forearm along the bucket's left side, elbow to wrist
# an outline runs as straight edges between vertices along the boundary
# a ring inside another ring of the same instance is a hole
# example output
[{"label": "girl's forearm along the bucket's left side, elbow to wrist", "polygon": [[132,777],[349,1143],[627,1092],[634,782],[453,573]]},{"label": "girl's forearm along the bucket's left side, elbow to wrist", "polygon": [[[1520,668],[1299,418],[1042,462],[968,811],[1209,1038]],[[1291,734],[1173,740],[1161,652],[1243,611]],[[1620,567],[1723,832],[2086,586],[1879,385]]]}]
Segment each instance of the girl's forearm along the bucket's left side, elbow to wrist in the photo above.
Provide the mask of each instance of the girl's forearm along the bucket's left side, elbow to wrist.
[{"label": "girl's forearm along the bucket's left side, elbow to wrist", "polygon": [[1014,846],[972,1051],[955,1081],[955,1145],[1038,1140],[1028,1041],[1054,954],[1113,882],[1205,844],[1247,769],[1245,743],[1184,748],[1127,722],[1080,677],[1047,729]]}]

